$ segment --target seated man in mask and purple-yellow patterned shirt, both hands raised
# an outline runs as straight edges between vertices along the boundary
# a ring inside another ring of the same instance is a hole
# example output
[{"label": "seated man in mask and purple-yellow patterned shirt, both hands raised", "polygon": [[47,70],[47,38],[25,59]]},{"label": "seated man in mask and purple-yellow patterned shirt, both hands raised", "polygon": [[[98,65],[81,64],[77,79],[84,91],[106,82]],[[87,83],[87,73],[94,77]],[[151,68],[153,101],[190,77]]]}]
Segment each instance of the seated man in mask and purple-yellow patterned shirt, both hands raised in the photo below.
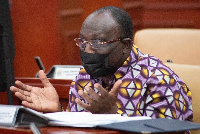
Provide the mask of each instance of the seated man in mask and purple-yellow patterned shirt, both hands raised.
[{"label": "seated man in mask and purple-yellow patterned shirt, both hands raised", "polygon": [[[133,45],[133,26],[120,8],[101,8],[84,21],[76,44],[83,67],[72,82],[67,111],[192,119],[191,93],[161,61]],[[61,111],[59,97],[43,71],[44,88],[16,81],[11,91],[22,104],[42,112]]]}]

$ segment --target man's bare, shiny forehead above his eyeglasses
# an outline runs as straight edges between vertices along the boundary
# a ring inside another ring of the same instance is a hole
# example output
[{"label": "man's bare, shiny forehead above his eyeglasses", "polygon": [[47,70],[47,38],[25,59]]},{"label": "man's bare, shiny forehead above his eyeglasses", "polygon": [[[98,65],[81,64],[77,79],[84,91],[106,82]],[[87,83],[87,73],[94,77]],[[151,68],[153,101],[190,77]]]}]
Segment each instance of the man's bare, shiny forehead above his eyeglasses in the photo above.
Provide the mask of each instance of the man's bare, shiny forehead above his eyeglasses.
[{"label": "man's bare, shiny forehead above his eyeglasses", "polygon": [[119,37],[119,24],[110,12],[94,13],[83,23],[80,37],[85,39],[111,39]]}]

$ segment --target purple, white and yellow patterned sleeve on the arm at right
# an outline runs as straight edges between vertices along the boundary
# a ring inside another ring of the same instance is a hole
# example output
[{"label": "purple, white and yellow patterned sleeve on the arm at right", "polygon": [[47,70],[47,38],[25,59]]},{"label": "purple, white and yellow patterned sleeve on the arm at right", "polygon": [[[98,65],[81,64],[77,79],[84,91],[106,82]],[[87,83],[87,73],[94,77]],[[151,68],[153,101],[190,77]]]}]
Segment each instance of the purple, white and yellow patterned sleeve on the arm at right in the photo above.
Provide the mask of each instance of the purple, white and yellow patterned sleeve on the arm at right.
[{"label": "purple, white and yellow patterned sleeve on the arm at right", "polygon": [[141,69],[137,77],[125,78],[119,90],[118,113],[191,120],[191,92],[173,71]]}]

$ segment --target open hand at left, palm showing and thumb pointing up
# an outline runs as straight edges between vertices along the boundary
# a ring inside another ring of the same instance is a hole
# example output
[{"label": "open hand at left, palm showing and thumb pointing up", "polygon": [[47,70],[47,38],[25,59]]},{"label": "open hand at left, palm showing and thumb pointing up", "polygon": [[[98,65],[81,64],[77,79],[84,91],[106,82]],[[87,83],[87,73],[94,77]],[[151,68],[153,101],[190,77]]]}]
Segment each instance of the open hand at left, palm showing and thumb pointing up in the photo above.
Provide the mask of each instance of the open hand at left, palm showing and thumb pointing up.
[{"label": "open hand at left, palm showing and thumb pointing up", "polygon": [[44,88],[32,87],[16,81],[17,87],[11,86],[10,90],[15,92],[15,95],[22,100],[22,104],[28,108],[40,112],[61,111],[58,94],[42,70],[39,71],[39,77]]}]

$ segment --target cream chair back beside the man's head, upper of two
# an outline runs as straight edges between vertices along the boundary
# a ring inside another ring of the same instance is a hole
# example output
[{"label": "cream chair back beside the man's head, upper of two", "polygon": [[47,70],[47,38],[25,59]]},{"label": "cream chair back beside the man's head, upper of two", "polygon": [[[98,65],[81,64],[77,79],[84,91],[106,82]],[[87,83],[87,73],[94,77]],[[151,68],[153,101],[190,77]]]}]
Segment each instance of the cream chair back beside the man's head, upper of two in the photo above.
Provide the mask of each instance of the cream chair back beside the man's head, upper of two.
[{"label": "cream chair back beside the man's head, upper of two", "polygon": [[152,28],[135,33],[134,43],[143,53],[180,64],[200,65],[200,30]]}]

